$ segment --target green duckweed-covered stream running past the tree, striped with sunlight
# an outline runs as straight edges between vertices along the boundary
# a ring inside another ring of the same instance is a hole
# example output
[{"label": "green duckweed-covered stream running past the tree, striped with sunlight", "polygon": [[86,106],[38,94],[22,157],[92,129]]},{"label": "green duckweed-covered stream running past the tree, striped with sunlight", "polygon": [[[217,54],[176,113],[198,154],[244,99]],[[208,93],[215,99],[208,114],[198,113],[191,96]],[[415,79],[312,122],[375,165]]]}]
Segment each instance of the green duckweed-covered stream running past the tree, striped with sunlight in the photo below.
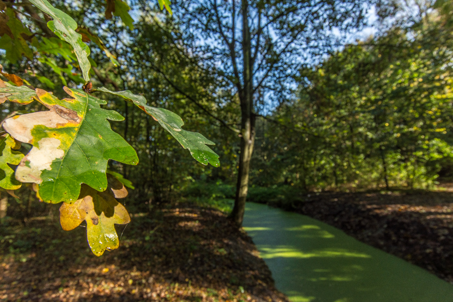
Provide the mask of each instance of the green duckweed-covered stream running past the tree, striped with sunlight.
[{"label": "green duckweed-covered stream running past the tree, striped with sunlight", "polygon": [[247,203],[244,229],[293,302],[453,302],[453,285],[308,216]]}]

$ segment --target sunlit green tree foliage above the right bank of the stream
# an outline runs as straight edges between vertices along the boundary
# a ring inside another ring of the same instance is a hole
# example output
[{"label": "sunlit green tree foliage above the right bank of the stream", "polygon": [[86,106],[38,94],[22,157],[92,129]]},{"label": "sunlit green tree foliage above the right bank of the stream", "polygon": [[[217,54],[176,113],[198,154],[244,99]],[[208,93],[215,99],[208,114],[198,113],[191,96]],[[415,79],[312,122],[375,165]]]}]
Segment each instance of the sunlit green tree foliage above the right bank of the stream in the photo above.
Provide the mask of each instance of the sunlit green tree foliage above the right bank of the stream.
[{"label": "sunlit green tree foliage above the right bank of the stream", "polygon": [[[425,21],[428,20],[429,22]],[[453,36],[437,12],[301,70],[299,97],[257,135],[261,186],[430,187],[452,161]],[[290,125],[290,126],[289,126]]]}]

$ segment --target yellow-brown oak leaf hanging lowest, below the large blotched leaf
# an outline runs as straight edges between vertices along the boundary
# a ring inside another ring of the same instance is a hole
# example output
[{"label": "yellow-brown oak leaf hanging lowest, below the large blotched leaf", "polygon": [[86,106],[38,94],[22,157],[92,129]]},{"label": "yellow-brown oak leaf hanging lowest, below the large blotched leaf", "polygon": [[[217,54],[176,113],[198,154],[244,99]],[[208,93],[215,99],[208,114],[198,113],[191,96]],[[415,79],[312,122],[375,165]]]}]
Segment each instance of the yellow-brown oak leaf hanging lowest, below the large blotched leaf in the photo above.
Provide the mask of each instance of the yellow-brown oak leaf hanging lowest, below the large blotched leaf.
[{"label": "yellow-brown oak leaf hanging lowest, below the large blotched leaf", "polygon": [[[101,256],[105,250],[111,251],[119,247],[114,224],[130,221],[126,208],[115,199],[124,197],[127,191],[115,178],[109,178],[110,181],[114,183],[111,186],[116,186],[117,190],[109,187],[104,192],[98,192],[82,185],[79,199],[73,204],[63,203],[60,207],[63,230],[73,230],[82,221],[87,221],[88,244],[96,256]],[[119,186],[122,189],[118,189]]]}]

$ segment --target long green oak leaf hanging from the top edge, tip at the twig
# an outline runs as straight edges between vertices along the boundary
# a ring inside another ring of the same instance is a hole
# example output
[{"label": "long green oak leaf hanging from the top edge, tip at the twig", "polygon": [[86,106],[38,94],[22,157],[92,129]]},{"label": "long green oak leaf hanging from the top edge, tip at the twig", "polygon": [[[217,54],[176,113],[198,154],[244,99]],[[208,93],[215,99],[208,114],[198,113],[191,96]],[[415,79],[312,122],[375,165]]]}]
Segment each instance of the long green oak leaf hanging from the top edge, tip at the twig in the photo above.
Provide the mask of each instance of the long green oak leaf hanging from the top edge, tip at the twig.
[{"label": "long green oak leaf hanging from the top edge, tip at the twig", "polygon": [[74,48],[75,56],[79,61],[85,81],[90,81],[89,71],[91,68],[88,56],[90,48],[82,41],[82,35],[75,32],[77,23],[69,15],[54,8],[47,0],[30,0],[37,8],[53,18],[47,22],[47,26],[61,40],[68,42]]}]

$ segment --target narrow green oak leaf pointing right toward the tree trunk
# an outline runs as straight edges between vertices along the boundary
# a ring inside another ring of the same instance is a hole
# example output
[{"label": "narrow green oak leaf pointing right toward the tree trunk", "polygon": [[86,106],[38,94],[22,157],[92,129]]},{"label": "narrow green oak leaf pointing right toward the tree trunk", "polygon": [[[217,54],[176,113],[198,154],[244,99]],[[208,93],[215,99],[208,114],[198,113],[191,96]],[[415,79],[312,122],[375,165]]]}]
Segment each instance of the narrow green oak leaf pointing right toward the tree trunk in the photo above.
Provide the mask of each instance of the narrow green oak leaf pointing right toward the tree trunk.
[{"label": "narrow green oak leaf pointing right toward the tree trunk", "polygon": [[146,99],[143,96],[134,95],[129,90],[113,92],[106,88],[100,88],[98,91],[117,95],[125,100],[131,101],[158,121],[185,149],[189,149],[192,157],[198,162],[203,165],[209,163],[214,167],[220,166],[218,155],[206,146],[214,143],[198,132],[183,130],[181,127],[184,125],[184,122],[176,113],[167,109],[148,106],[146,105]]}]

